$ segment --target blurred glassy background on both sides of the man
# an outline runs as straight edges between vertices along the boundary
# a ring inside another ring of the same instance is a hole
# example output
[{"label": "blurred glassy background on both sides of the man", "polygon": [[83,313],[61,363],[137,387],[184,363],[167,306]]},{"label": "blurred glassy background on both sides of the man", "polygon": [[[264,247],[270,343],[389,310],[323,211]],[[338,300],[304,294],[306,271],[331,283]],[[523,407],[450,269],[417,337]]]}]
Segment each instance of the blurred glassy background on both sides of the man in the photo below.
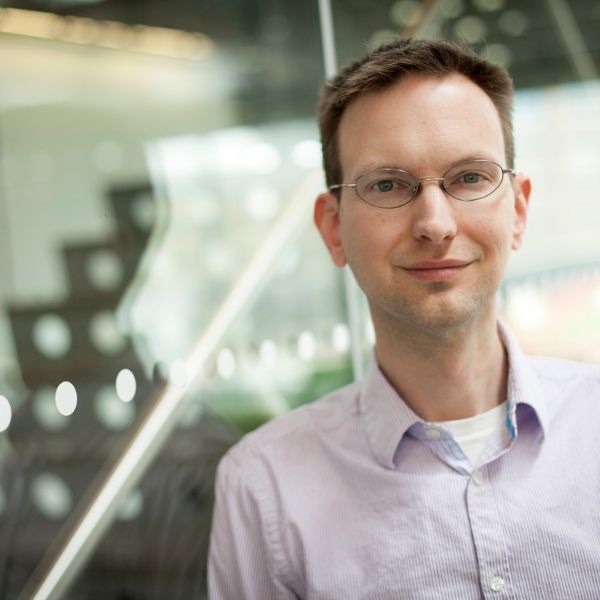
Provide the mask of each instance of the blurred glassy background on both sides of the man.
[{"label": "blurred glassy background on both sides of the man", "polygon": [[509,68],[533,196],[500,309],[528,351],[600,363],[599,31],[595,0],[0,2],[0,598],[43,579],[182,378],[173,433],[57,597],[205,597],[220,456],[360,373],[365,303],[311,222],[323,40],[339,64],[413,36]]}]

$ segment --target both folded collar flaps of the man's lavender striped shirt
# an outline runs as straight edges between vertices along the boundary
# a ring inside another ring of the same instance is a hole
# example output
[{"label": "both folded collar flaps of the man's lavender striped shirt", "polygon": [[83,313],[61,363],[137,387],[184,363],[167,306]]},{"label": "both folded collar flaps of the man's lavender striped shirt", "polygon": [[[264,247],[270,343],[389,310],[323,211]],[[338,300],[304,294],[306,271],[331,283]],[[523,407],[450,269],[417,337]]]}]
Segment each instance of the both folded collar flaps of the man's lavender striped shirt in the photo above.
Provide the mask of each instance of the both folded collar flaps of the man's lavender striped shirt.
[{"label": "both folded collar flaps of the man's lavender striped shirt", "polygon": [[[518,425],[526,415],[519,406],[528,406],[533,412],[542,437],[548,429],[548,409],[535,371],[508,329],[498,323],[500,338],[508,355],[507,428],[517,436]],[[371,356],[360,394],[360,410],[364,419],[367,440],[378,462],[395,469],[398,445],[407,431],[421,419],[381,372],[374,354]]]}]

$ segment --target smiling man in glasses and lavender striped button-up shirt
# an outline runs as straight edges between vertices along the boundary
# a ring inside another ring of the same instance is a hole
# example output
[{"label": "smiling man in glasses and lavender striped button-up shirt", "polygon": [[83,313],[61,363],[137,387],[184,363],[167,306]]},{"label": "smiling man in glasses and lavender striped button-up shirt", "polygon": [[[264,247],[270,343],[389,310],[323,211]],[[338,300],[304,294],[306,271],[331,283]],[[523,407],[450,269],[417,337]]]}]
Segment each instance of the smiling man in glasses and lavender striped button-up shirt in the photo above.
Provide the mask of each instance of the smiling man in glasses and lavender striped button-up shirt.
[{"label": "smiling man in glasses and lavender striped button-up shirt", "polygon": [[315,223],[374,357],[222,460],[211,598],[600,597],[600,369],[525,357],[496,319],[531,189],[511,104],[503,69],[443,42],[326,87]]}]

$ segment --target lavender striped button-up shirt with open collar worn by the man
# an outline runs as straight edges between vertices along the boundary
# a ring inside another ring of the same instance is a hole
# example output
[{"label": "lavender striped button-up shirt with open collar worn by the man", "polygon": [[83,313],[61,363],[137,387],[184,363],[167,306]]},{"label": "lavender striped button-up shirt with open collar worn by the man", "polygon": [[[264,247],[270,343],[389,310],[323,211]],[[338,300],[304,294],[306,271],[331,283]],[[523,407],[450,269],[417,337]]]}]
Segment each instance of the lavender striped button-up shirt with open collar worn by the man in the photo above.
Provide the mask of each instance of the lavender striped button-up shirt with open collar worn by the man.
[{"label": "lavender striped button-up shirt with open collar worn by the man", "polygon": [[600,598],[600,368],[509,355],[474,467],[372,362],[222,459],[212,600]]}]

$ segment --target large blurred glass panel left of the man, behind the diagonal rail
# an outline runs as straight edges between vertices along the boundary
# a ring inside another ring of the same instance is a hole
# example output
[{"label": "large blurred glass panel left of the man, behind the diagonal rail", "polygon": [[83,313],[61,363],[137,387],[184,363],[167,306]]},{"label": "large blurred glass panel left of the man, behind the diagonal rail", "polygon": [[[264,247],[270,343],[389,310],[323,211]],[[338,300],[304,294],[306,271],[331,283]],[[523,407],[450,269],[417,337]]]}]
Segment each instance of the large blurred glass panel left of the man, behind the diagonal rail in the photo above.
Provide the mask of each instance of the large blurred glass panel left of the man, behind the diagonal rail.
[{"label": "large blurred glass panel left of the man, behind the diagonal rail", "polygon": [[[310,218],[317,6],[7,5],[0,597],[39,580],[182,385],[174,435],[61,597],[203,597],[220,456],[351,377],[341,279]],[[265,243],[253,293],[191,361]]]}]

